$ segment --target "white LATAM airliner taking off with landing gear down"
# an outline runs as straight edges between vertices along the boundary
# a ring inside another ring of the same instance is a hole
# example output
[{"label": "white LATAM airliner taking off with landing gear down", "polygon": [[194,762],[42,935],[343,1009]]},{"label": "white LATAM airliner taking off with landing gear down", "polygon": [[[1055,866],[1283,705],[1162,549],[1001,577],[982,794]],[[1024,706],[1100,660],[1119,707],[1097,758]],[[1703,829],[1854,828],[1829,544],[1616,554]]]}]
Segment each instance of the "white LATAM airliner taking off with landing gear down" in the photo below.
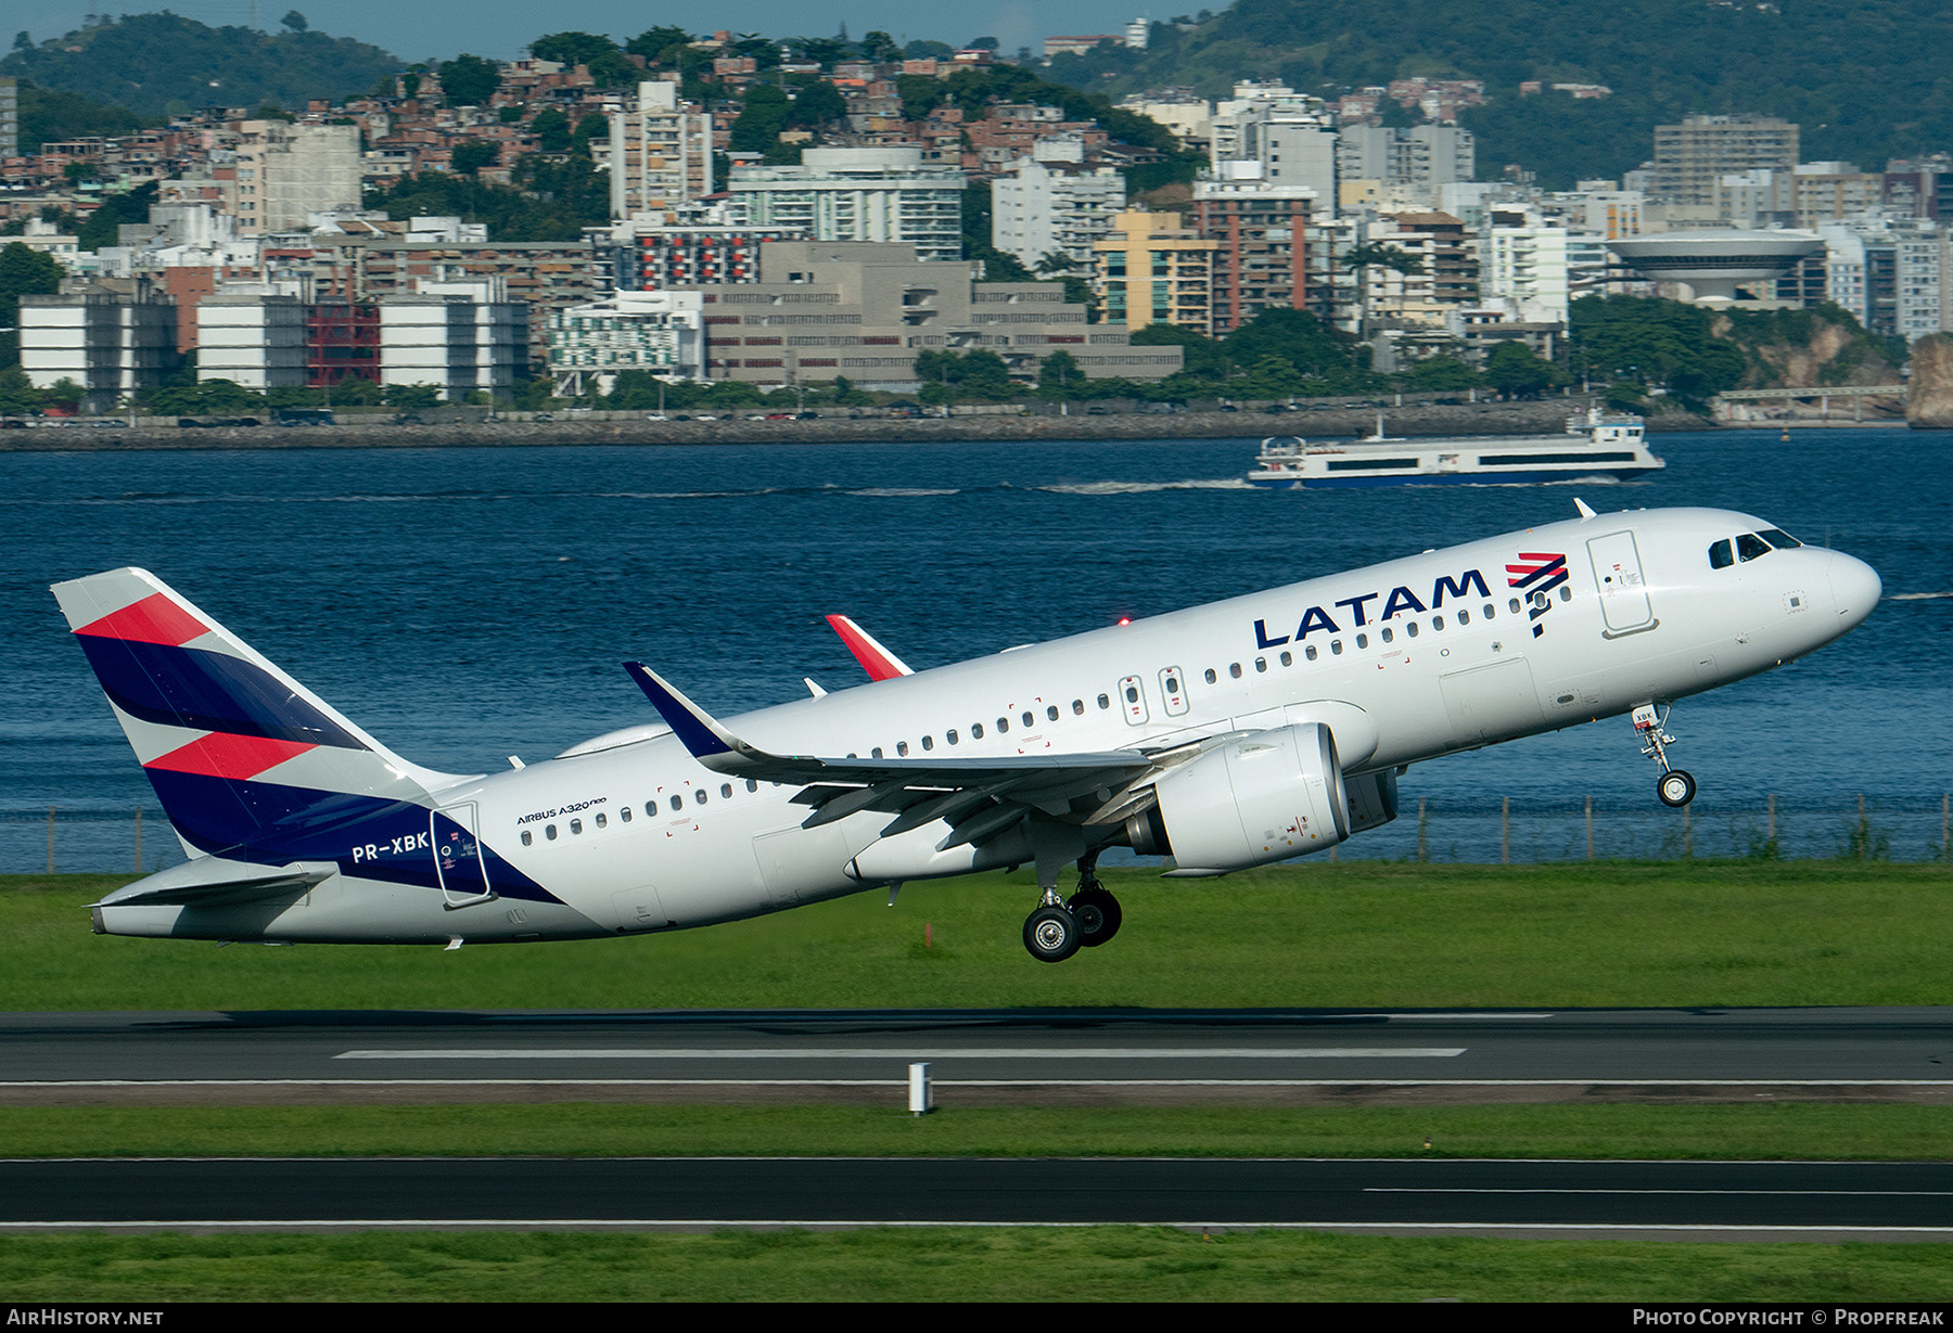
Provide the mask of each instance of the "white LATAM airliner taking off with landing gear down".
[{"label": "white LATAM airliner taking off with landing gear down", "polygon": [[[143,570],[57,584],[189,855],[98,933],[436,943],[709,925],[1035,865],[1035,958],[1103,945],[1105,847],[1226,874],[1396,814],[1406,765],[1666,707],[1838,638],[1851,556],[1721,509],[1580,517],[715,720],[627,664],[664,722],[492,775],[400,759]],[[1076,865],[1066,898],[1059,880]]]}]

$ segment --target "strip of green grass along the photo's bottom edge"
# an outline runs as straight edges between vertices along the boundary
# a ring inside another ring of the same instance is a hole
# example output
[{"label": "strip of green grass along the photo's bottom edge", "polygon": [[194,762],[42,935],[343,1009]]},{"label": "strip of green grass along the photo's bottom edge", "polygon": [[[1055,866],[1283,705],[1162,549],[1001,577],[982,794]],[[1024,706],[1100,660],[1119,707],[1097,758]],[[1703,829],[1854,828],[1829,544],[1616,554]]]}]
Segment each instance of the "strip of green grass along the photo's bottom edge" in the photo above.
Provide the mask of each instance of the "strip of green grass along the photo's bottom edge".
[{"label": "strip of green grass along the photo's bottom edge", "polygon": [[1168,1228],[4,1235],[35,1300],[1945,1302],[1945,1245],[1392,1239]]}]

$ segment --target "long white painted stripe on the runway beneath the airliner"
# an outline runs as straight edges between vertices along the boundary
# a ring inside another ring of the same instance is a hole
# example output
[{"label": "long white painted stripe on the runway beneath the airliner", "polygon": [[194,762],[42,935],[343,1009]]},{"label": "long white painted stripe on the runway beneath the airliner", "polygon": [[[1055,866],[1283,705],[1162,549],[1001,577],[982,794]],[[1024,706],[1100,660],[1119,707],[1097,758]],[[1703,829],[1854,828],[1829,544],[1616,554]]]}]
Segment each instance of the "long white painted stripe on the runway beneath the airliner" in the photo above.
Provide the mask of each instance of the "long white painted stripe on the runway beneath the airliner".
[{"label": "long white painted stripe on the runway beneath the airliner", "polygon": [[1449,1060],[1463,1046],[812,1046],[812,1048],[658,1048],[658,1046],[434,1046],[420,1050],[342,1050],[334,1060]]}]

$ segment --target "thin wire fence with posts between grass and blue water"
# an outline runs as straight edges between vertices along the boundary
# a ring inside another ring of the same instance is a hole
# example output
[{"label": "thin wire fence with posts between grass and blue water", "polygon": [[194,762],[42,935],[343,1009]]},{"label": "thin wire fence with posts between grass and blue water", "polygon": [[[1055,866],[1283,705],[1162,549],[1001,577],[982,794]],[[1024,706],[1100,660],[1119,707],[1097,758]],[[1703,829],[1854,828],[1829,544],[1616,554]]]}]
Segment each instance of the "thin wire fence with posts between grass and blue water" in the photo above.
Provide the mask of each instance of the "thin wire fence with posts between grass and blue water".
[{"label": "thin wire fence with posts between grass and blue water", "polygon": [[[1406,798],[1398,818],[1332,859],[1533,865],[1566,861],[1953,861],[1953,798],[1779,800],[1668,810],[1654,800]],[[184,859],[162,810],[0,810],[0,872],[154,872]],[[1119,859],[1109,857],[1107,865]]]}]

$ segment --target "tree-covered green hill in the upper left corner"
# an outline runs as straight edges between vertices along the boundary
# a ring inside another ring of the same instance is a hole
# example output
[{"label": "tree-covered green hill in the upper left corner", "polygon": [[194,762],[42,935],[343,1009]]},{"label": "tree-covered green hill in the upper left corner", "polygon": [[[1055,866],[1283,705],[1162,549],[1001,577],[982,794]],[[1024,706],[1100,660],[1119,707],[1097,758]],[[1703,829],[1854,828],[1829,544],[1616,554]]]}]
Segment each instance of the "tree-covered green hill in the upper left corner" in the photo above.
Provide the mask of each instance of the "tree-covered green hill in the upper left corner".
[{"label": "tree-covered green hill in the upper left corner", "polygon": [[207,27],[168,12],[127,14],[41,43],[18,33],[0,59],[0,74],[139,117],[213,103],[303,109],[312,98],[365,92],[398,68],[400,61],[379,47],[314,33],[297,10],[275,35]]}]

